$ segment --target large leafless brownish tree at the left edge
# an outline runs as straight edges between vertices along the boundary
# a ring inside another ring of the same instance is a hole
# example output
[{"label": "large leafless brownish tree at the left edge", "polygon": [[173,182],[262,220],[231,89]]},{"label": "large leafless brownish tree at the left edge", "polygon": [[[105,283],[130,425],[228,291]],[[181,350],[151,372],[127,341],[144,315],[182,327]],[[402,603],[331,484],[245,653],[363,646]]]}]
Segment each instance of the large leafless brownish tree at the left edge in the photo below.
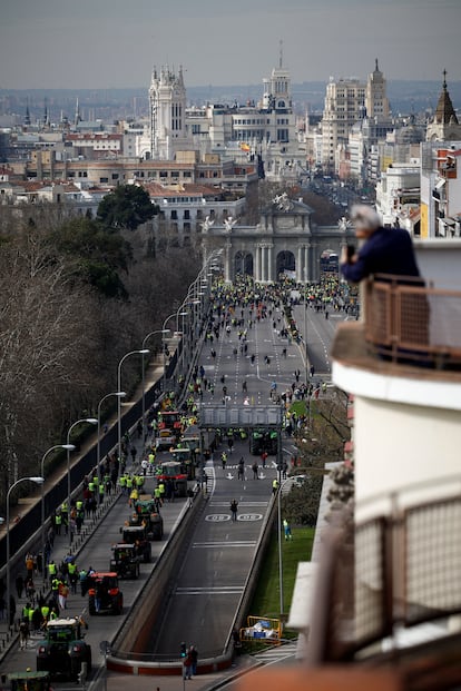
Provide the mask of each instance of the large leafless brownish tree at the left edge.
[{"label": "large leafless brownish tree at the left edge", "polygon": [[0,470],[13,480],[98,386],[98,322],[33,228],[0,246]]}]

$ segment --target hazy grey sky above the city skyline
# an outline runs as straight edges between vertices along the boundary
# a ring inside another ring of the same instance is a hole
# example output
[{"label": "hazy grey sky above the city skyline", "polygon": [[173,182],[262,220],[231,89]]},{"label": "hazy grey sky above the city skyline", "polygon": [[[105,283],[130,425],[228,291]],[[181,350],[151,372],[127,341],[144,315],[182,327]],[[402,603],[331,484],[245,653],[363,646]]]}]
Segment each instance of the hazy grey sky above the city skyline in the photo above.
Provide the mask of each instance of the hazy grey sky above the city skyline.
[{"label": "hazy grey sky above the city skyline", "polygon": [[461,0],[1,0],[0,88],[259,83],[279,40],[293,81],[461,79]]}]

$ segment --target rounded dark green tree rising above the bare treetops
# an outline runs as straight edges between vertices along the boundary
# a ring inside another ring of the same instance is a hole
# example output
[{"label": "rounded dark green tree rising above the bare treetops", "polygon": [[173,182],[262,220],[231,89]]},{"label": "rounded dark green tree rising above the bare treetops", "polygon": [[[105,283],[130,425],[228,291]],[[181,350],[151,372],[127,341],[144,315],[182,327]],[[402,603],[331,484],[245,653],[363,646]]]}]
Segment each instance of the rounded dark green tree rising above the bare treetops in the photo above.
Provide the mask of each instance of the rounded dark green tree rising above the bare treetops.
[{"label": "rounded dark green tree rising above the bare treetops", "polygon": [[111,229],[135,230],[158,214],[148,193],[137,185],[120,185],[106,195],[98,206],[97,219]]}]

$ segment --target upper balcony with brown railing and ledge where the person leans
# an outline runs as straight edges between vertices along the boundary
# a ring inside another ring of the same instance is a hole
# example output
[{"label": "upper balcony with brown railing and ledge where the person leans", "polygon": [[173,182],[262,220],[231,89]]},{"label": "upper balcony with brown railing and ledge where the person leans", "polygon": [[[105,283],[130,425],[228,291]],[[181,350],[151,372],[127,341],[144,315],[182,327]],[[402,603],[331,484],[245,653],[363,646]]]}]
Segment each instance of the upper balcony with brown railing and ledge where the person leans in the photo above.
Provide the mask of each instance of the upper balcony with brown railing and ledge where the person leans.
[{"label": "upper balcony with brown railing and ledge where the person leans", "polygon": [[340,325],[333,359],[380,374],[461,381],[461,292],[405,284],[395,276],[365,284],[363,322]]}]

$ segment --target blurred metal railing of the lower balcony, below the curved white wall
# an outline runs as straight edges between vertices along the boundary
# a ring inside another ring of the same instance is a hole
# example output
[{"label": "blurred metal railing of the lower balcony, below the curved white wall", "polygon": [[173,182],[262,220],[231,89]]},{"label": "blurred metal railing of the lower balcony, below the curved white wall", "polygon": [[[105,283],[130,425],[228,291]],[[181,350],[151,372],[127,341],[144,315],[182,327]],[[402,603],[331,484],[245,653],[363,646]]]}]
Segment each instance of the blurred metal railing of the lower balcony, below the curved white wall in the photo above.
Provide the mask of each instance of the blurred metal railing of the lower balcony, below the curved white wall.
[{"label": "blurred metal railing of the lower balcony, below the curved white wall", "polygon": [[356,525],[349,516],[325,534],[310,631],[313,663],[379,655],[373,644],[402,628],[461,613],[459,492],[400,505],[391,498],[389,515]]}]

